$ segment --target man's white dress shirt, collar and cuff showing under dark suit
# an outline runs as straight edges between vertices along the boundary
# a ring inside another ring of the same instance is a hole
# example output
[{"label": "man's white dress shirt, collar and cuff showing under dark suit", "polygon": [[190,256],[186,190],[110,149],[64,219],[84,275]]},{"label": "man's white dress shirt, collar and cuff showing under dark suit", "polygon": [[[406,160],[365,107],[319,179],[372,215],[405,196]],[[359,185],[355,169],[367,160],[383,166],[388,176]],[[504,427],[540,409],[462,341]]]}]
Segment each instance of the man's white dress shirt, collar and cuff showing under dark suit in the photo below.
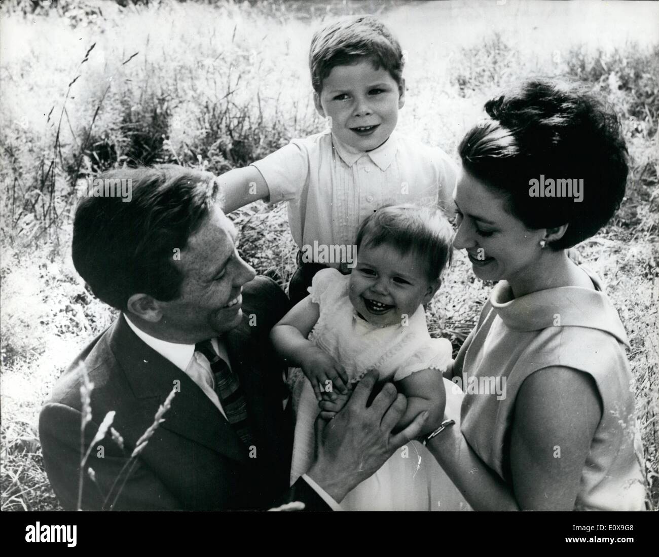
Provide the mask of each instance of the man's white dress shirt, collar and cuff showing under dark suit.
[{"label": "man's white dress shirt, collar and cuff showing under dark suit", "polygon": [[[192,379],[204,392],[204,394],[210,398],[212,403],[217,406],[219,411],[226,419],[227,415],[224,413],[224,409],[222,408],[219,398],[215,394],[214,378],[210,370],[210,363],[208,363],[206,357],[202,356],[199,352],[194,351],[194,344],[180,344],[152,337],[150,334],[145,333],[139,329],[132,321],[130,321],[127,314],[124,313],[123,316],[134,334],[136,334],[148,347],[154,349],[159,353],[159,355],[169,360],[171,363],[173,363],[173,365],[177,366],[177,368],[179,368],[190,379]],[[212,339],[212,344],[215,353],[227,363],[229,368],[231,368],[231,363],[229,363],[229,355],[227,353],[226,347],[221,342],[219,342],[217,338]],[[318,493],[320,498],[322,498],[322,500],[324,500],[324,502],[326,502],[332,510],[341,510],[341,506],[339,506],[339,504],[333,500],[321,486],[319,486],[306,474],[304,474],[302,478],[316,493]]]}]

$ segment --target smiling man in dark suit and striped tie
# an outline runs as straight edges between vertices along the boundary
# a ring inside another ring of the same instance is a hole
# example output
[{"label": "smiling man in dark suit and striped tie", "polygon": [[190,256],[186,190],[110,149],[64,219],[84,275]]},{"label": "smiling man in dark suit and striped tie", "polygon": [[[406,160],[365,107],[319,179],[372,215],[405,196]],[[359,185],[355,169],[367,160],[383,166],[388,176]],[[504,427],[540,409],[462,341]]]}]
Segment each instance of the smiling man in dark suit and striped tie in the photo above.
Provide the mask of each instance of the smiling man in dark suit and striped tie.
[{"label": "smiling man in dark suit and striped tie", "polygon": [[40,415],[43,461],[62,505],[339,508],[424,417],[392,435],[405,398],[386,384],[368,405],[370,374],[331,426],[318,422],[316,461],[289,488],[293,422],[284,367],[268,343],[288,309],[285,294],[239,256],[210,173],[163,165],[101,177],[117,179],[129,181],[130,201],[82,198],[72,256],[121,314],[58,380]]}]

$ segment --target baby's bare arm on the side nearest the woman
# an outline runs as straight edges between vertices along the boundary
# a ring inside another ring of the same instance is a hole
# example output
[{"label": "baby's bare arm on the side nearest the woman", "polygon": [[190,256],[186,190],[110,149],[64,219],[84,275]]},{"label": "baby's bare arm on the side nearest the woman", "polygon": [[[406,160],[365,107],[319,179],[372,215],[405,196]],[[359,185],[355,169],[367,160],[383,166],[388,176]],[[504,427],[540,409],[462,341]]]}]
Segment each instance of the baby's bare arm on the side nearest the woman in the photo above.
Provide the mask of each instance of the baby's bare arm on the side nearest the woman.
[{"label": "baby's bare arm on the side nearest the woman", "polygon": [[407,409],[396,425],[396,430],[405,429],[422,411],[428,411],[422,434],[436,430],[444,419],[446,392],[442,374],[436,369],[417,371],[396,382],[396,386],[407,397]]}]

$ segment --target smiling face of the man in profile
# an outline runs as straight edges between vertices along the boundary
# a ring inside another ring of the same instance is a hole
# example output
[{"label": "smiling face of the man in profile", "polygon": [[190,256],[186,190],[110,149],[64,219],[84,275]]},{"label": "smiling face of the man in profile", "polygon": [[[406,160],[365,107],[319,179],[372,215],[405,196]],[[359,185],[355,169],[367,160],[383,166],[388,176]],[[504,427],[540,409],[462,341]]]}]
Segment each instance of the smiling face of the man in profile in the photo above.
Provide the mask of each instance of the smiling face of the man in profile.
[{"label": "smiling face of the man in profile", "polygon": [[161,323],[181,343],[219,336],[243,318],[243,285],[256,276],[235,249],[233,223],[215,208],[181,252],[181,295],[160,302]]}]

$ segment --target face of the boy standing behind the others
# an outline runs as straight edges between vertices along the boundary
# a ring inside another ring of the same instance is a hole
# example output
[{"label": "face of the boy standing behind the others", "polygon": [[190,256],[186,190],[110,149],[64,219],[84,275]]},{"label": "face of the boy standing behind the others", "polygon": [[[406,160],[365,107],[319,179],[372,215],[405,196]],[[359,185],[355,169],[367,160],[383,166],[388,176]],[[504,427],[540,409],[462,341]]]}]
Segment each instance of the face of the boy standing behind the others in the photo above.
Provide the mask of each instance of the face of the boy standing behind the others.
[{"label": "face of the boy standing behind the others", "polygon": [[405,82],[399,87],[384,68],[374,69],[363,59],[349,66],[335,66],[314,93],[316,109],[330,117],[331,131],[339,140],[360,151],[382,145],[398,121],[405,102]]}]

